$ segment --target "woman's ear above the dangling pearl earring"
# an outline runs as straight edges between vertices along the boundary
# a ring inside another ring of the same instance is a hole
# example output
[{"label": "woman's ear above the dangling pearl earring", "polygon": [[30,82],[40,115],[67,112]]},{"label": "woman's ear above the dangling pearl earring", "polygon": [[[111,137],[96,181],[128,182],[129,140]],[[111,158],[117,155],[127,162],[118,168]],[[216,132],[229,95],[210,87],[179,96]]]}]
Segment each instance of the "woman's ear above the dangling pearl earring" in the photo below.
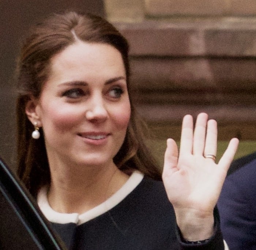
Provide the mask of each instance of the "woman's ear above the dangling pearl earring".
[{"label": "woman's ear above the dangling pearl earring", "polygon": [[33,125],[37,124],[38,127],[42,126],[38,99],[30,96],[30,99],[27,101],[25,106],[25,112],[27,118],[29,118]]}]

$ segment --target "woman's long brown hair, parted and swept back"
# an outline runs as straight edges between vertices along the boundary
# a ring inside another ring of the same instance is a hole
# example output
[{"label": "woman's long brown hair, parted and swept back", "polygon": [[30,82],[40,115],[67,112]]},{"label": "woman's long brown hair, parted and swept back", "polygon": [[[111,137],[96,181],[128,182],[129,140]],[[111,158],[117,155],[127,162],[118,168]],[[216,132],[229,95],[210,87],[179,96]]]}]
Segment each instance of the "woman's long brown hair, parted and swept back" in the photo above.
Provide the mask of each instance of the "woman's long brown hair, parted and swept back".
[{"label": "woman's long brown hair, parted and swept back", "polygon": [[[91,15],[68,12],[54,14],[31,29],[23,44],[17,65],[18,99],[17,152],[18,175],[36,196],[42,185],[50,183],[50,171],[44,143],[44,134],[34,140],[33,125],[27,118],[25,107],[30,96],[39,98],[43,84],[50,74],[50,59],[77,40],[90,43],[106,43],[114,46],[122,55],[129,92],[128,43],[116,28],[105,19]],[[161,179],[159,168],[144,144],[143,122],[136,114],[132,100],[131,119],[125,140],[114,163],[123,171],[134,168],[154,179]]]}]

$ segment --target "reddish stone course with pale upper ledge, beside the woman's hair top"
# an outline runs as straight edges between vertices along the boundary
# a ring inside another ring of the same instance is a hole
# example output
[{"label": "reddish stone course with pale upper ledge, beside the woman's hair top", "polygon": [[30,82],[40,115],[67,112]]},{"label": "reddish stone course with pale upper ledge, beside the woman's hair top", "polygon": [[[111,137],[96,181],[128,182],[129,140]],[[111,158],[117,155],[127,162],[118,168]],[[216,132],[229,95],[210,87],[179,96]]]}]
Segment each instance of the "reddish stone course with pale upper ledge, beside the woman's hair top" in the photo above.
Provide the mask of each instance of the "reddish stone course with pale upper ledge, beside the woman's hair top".
[{"label": "reddish stone course with pale upper ledge, beside the woman's hair top", "polygon": [[148,20],[114,25],[128,39],[131,56],[256,57],[255,18]]}]

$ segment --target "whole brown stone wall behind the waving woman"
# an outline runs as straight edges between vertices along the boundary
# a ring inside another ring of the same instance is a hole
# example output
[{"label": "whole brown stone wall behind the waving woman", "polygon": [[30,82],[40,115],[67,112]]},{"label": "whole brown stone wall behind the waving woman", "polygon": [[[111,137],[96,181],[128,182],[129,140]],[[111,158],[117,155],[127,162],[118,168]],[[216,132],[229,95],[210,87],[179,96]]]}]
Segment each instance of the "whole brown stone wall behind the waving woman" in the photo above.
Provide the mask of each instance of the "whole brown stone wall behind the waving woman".
[{"label": "whole brown stone wall behind the waving woman", "polygon": [[157,135],[184,114],[219,123],[219,139],[256,140],[256,1],[105,0],[131,45],[136,106]]}]

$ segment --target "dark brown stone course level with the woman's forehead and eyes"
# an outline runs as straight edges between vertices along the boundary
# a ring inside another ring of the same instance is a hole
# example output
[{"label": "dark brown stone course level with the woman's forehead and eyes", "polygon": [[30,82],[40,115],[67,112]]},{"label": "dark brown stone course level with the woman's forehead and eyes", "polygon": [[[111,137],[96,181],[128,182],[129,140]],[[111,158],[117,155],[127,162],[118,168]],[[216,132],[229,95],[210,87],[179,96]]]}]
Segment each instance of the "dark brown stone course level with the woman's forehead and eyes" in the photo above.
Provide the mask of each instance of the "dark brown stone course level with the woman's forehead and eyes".
[{"label": "dark brown stone course level with the woman's forehead and eyes", "polygon": [[255,58],[133,57],[131,85],[144,90],[256,93]]}]

